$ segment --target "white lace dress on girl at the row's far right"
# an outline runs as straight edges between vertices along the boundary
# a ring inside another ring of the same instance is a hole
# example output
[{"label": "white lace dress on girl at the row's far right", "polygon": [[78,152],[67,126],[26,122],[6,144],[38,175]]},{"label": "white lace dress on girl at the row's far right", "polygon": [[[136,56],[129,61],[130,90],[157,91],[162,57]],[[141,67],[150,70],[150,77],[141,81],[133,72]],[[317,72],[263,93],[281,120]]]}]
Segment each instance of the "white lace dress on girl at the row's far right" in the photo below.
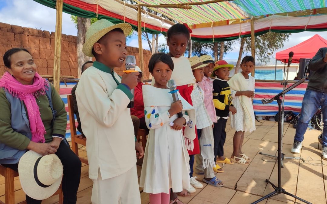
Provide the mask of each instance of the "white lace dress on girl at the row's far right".
[{"label": "white lace dress on girl at the row's far right", "polygon": [[[254,86],[255,86],[254,78],[252,76],[249,76],[249,79],[245,79],[245,81],[248,84],[248,89],[247,90],[254,91]],[[231,126],[236,131],[244,131],[245,128],[244,128],[244,122],[243,121],[244,121],[245,115],[243,113],[243,108],[242,108],[242,105],[240,103],[239,96],[235,96],[236,91],[231,89],[231,92],[232,92],[232,103],[233,103],[233,105],[235,106],[235,108],[237,110],[236,114],[234,114],[234,115],[232,115],[232,113],[230,113]],[[248,99],[250,101],[250,104],[252,104],[252,99],[251,98],[248,98]],[[250,129],[250,132],[253,132],[253,131],[255,131],[255,118],[254,118],[253,105],[251,105],[249,107],[249,110],[250,110],[250,113],[251,113],[251,120],[252,120],[252,124],[253,124],[251,129]]]}]

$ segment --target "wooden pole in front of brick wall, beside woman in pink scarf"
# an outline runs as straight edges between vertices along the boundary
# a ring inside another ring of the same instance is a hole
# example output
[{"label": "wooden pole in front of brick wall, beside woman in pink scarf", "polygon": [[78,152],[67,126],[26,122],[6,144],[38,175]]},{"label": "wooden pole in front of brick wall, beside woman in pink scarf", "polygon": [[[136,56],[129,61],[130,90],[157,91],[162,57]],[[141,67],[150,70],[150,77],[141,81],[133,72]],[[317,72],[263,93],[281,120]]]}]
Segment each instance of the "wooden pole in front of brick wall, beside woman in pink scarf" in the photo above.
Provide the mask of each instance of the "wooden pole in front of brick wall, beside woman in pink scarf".
[{"label": "wooden pole in front of brick wall, beside woman in pink scarf", "polygon": [[61,28],[62,28],[63,0],[56,3],[56,33],[55,33],[55,59],[53,65],[53,85],[57,92],[60,91],[60,55],[61,55]]}]

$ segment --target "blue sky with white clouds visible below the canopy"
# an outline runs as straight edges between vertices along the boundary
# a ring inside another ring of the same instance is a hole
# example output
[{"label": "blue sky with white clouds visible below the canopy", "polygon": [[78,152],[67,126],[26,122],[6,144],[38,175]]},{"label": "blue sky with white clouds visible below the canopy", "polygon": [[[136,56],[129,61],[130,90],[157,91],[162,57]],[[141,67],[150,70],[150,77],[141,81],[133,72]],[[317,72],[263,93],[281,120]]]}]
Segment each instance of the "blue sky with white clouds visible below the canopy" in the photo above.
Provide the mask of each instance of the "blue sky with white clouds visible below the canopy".
[{"label": "blue sky with white clouds visible below the canopy", "polygon": [[[77,28],[71,21],[70,14],[63,13],[62,18],[62,33],[77,36]],[[56,26],[56,10],[43,6],[33,0],[0,0],[0,22],[54,32]],[[295,46],[315,34],[327,39],[326,31],[293,33],[289,41],[285,42],[284,47],[278,51]],[[165,43],[165,41],[164,36],[160,35],[159,44]],[[149,45],[144,37],[142,42],[143,49],[149,49]],[[132,38],[128,39],[127,45],[138,47],[137,32],[134,31]],[[239,47],[239,43],[236,43],[232,51],[224,55],[224,58],[237,59]]]}]

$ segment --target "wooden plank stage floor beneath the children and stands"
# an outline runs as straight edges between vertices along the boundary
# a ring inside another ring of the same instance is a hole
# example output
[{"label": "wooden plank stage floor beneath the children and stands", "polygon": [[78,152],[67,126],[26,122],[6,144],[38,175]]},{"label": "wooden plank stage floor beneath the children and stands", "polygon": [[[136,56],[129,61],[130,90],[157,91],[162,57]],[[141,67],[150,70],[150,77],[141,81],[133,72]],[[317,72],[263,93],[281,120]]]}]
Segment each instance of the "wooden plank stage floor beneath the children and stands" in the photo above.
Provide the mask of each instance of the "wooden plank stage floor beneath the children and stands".
[{"label": "wooden plank stage floor beneath the children and stands", "polygon": [[[275,155],[277,151],[277,130],[278,124],[274,121],[262,120],[256,122],[257,130],[251,134],[246,134],[243,144],[243,152],[245,152],[252,161],[250,165],[224,165],[223,173],[218,173],[217,177],[225,182],[224,187],[216,188],[203,183],[204,188],[197,189],[191,197],[180,197],[180,200],[188,204],[248,204],[261,196],[267,195],[273,189],[267,185],[266,179],[277,184],[277,164],[275,160],[264,157],[259,152]],[[230,122],[228,121],[227,124]],[[232,154],[234,131],[230,125],[226,127],[227,138],[224,145],[225,155],[230,157]],[[290,149],[293,145],[293,137],[295,129],[290,124],[285,124],[283,152],[286,156],[293,156]],[[308,130],[305,133],[301,156],[305,163],[299,160],[285,160],[282,169],[282,187],[311,203],[326,204],[327,183],[325,182],[327,175],[327,161],[321,159],[320,144],[318,147],[317,130]],[[86,157],[86,148],[80,146],[79,154]],[[265,161],[264,161],[265,160]],[[138,167],[138,175],[141,173],[141,166]],[[196,175],[198,179],[201,176]],[[77,194],[77,204],[90,204],[92,193],[92,180],[88,177],[88,165],[82,164],[81,180]],[[140,189],[142,190],[142,189]],[[43,204],[58,203],[58,196],[50,197],[44,200]],[[0,200],[5,201],[5,185],[4,178],[0,176]],[[15,180],[15,203],[25,200],[25,194],[21,189],[18,177]],[[149,203],[148,194],[141,193],[142,204]],[[295,200],[291,196],[284,194],[274,196],[271,199],[264,200],[260,203],[282,204],[282,203],[302,203]]]}]

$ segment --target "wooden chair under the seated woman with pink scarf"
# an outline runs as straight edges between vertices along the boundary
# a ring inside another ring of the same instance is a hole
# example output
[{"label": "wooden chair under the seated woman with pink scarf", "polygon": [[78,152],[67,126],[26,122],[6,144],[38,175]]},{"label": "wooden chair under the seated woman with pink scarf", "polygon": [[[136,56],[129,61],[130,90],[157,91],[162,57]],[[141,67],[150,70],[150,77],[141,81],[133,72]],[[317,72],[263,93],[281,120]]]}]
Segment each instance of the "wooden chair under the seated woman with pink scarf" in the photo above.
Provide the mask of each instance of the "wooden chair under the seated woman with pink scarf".
[{"label": "wooden chair under the seated woman with pink scarf", "polygon": [[[12,170],[11,168],[0,165],[0,174],[5,177],[5,203],[0,200],[0,204],[14,204],[15,203],[15,186],[14,186],[14,178],[19,176],[18,172]],[[54,195],[59,194],[59,204],[63,203],[63,195],[61,185],[59,189],[54,193]],[[26,202],[21,202],[23,204]]]}]

